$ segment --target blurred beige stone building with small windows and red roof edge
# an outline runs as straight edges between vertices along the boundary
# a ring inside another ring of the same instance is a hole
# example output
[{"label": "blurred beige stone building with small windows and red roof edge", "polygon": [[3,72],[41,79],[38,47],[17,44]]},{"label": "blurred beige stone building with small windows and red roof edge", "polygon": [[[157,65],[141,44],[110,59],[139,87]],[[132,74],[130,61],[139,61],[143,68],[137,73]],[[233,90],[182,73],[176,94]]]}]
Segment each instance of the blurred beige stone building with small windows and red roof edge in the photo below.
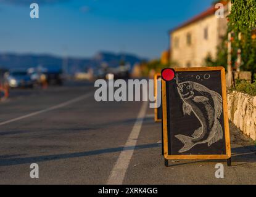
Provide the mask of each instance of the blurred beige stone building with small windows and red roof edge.
[{"label": "blurred beige stone building with small windows and red roof edge", "polygon": [[215,5],[188,22],[170,31],[171,61],[180,67],[204,66],[207,55],[215,58],[217,47],[226,34],[228,3],[224,6],[224,17],[218,18]]}]

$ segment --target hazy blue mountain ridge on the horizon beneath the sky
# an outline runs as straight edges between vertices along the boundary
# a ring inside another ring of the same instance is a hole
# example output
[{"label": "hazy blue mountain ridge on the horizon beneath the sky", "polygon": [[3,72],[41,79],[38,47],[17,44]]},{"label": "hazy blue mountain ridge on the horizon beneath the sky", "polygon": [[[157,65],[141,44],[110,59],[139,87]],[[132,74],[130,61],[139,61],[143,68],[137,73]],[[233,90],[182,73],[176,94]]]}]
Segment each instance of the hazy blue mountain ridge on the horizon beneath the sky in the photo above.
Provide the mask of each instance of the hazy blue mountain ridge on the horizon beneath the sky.
[{"label": "hazy blue mountain ridge on the horizon beneath the sky", "polygon": [[30,68],[34,66],[44,66],[46,68],[63,68],[68,73],[76,71],[86,71],[88,68],[97,68],[102,64],[110,67],[116,67],[123,60],[133,66],[145,58],[139,58],[131,54],[114,54],[111,52],[99,52],[92,58],[74,58],[74,57],[57,57],[54,55],[35,55],[35,54],[0,54],[0,68]]}]

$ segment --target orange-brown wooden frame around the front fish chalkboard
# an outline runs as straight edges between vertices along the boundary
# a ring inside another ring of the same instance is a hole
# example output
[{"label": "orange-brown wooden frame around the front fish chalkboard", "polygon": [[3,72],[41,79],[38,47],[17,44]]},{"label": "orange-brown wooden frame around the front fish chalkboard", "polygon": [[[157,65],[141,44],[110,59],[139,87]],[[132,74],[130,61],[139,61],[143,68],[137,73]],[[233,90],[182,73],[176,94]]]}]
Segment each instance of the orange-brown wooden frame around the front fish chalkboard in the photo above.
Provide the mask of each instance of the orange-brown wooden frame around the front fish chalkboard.
[{"label": "orange-brown wooden frame around the front fish chalkboard", "polygon": [[174,70],[176,72],[221,71],[221,88],[222,88],[222,98],[223,98],[223,118],[224,118],[224,127],[225,127],[224,129],[225,129],[226,155],[168,155],[167,89],[166,89],[166,82],[162,79],[163,153],[164,153],[165,159],[229,159],[231,158],[225,68],[223,67],[174,68]]}]

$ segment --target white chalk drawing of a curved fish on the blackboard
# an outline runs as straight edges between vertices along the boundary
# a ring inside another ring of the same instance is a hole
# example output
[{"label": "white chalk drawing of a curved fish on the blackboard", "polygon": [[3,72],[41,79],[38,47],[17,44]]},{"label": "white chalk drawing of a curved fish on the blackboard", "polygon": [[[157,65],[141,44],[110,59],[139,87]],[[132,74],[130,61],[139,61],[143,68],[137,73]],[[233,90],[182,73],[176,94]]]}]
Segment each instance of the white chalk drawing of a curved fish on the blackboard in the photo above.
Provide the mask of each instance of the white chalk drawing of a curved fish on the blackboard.
[{"label": "white chalk drawing of a curved fish on the blackboard", "polygon": [[178,93],[183,100],[184,115],[191,115],[193,112],[201,124],[201,127],[194,131],[192,137],[175,135],[184,144],[179,153],[184,153],[202,143],[208,143],[208,147],[210,147],[213,143],[222,140],[223,131],[218,121],[223,111],[221,95],[197,82],[179,83],[178,79],[176,81]]}]

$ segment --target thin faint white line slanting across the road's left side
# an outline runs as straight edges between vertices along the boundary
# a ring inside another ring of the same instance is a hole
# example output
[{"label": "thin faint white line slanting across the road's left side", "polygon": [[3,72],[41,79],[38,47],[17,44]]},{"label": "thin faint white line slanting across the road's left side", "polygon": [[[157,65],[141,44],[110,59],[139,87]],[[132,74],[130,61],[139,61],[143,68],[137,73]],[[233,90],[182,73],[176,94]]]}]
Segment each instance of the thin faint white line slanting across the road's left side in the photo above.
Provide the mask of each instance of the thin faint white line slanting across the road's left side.
[{"label": "thin faint white line slanting across the road's left side", "polygon": [[70,105],[72,103],[76,103],[76,102],[79,102],[80,100],[83,100],[85,98],[88,98],[89,96],[93,95],[93,93],[88,93],[88,94],[84,94],[84,95],[81,95],[80,97],[77,97],[77,98],[73,98],[72,100],[68,100],[67,102],[64,102],[64,103],[60,103],[59,105],[55,105],[53,107],[50,107],[50,108],[46,108],[45,110],[40,110],[40,111],[35,111],[33,113],[29,113],[28,115],[25,115],[25,116],[20,116],[18,118],[14,118],[14,119],[10,119],[8,121],[4,121],[2,123],[0,123],[0,126],[4,125],[4,124],[9,124],[9,123],[13,123],[15,121],[19,121],[20,119],[25,119],[25,118],[30,118],[31,116],[36,116],[36,115],[39,115],[41,113],[46,113],[48,111],[52,111],[52,110],[57,110],[59,108],[62,108],[62,107],[65,107],[67,105]]}]

